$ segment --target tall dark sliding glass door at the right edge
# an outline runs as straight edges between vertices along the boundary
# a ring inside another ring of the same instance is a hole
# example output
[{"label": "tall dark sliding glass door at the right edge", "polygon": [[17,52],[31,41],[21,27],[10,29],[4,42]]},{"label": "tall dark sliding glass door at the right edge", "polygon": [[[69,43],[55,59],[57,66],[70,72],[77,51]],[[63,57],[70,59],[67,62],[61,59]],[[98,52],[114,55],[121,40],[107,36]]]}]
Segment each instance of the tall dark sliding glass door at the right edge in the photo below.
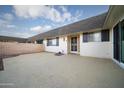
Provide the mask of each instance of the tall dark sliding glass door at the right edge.
[{"label": "tall dark sliding glass door at the right edge", "polygon": [[114,27],[114,58],[124,63],[124,20]]}]

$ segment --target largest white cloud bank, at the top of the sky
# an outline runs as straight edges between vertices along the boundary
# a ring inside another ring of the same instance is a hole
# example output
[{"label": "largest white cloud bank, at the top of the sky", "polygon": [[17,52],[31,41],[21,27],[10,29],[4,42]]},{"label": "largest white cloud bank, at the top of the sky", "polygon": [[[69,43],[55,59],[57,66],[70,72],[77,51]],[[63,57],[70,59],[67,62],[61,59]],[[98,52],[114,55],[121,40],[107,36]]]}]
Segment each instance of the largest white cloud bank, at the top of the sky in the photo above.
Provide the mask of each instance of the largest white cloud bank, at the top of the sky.
[{"label": "largest white cloud bank, at the top of the sky", "polygon": [[15,14],[25,19],[43,17],[53,22],[64,22],[73,18],[65,6],[58,7],[61,11],[57,10],[54,6],[13,6]]}]

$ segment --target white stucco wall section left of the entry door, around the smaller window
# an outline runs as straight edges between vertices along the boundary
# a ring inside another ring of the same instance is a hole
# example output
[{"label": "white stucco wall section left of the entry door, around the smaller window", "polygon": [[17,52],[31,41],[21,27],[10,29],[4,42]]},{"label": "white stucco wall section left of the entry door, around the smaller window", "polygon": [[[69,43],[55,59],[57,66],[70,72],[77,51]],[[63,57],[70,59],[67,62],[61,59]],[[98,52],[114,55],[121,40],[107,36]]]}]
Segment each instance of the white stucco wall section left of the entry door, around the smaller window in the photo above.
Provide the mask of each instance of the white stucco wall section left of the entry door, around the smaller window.
[{"label": "white stucco wall section left of the entry door, around the smaller window", "polygon": [[[65,38],[65,41],[63,40]],[[59,46],[47,46],[47,40],[44,40],[45,45],[45,51],[48,52],[63,52],[64,54],[67,54],[67,37],[59,37]]]}]

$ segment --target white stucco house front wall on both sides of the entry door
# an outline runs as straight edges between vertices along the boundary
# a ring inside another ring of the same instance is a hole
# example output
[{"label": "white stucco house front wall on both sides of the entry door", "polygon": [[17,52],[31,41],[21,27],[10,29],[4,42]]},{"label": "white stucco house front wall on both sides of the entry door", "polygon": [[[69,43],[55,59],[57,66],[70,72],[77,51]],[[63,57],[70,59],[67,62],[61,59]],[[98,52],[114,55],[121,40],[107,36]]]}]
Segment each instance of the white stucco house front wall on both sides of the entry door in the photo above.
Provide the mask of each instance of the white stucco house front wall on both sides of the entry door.
[{"label": "white stucco house front wall on both sides of the entry door", "polygon": [[[65,38],[65,40],[63,39]],[[68,38],[67,36],[59,37],[59,46],[47,46],[47,40],[43,41],[45,45],[45,51],[48,52],[63,52],[64,54],[68,54]],[[98,58],[112,58],[113,50],[112,50],[112,31],[110,31],[110,41],[109,42],[83,42],[83,35],[80,34],[80,44],[79,44],[81,56],[90,56],[90,57],[98,57]]]}]

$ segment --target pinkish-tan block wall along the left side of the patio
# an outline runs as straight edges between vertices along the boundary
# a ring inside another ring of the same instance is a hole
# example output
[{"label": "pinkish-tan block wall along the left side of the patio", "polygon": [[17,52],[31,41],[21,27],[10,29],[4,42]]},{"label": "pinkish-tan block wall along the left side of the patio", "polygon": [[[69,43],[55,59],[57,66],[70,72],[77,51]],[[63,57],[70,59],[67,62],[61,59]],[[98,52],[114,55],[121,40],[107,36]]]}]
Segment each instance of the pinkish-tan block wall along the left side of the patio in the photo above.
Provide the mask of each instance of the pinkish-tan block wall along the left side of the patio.
[{"label": "pinkish-tan block wall along the left side of the patio", "polygon": [[44,51],[44,45],[32,43],[0,42],[0,57]]}]

